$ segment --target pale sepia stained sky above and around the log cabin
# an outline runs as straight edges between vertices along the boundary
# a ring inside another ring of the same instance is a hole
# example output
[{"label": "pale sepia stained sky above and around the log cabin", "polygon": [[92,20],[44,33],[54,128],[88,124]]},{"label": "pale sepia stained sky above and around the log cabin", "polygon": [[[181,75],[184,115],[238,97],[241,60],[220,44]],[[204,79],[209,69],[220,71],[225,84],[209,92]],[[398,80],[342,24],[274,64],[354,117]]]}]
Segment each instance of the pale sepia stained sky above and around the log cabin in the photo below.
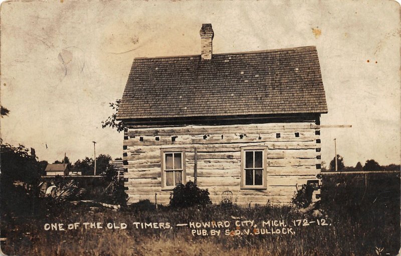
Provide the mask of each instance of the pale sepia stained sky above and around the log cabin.
[{"label": "pale sepia stained sky above and around the log cabin", "polygon": [[400,164],[400,6],[394,1],[4,2],[0,12],[3,143],[40,160],[122,156],[123,134],[102,129],[135,57],[200,54],[212,23],[214,53],[315,45],[328,113],[322,160]]}]

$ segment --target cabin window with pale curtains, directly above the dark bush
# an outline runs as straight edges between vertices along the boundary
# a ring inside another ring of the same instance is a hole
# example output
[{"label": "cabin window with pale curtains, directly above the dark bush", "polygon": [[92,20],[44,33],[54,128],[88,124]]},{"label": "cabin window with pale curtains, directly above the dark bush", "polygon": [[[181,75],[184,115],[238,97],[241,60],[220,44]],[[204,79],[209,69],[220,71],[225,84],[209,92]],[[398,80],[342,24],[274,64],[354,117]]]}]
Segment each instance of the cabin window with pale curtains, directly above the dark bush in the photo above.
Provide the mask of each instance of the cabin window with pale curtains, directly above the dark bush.
[{"label": "cabin window with pale curtains, directly above the dark bush", "polygon": [[173,189],[178,183],[185,184],[185,151],[181,149],[162,149],[162,187]]}]

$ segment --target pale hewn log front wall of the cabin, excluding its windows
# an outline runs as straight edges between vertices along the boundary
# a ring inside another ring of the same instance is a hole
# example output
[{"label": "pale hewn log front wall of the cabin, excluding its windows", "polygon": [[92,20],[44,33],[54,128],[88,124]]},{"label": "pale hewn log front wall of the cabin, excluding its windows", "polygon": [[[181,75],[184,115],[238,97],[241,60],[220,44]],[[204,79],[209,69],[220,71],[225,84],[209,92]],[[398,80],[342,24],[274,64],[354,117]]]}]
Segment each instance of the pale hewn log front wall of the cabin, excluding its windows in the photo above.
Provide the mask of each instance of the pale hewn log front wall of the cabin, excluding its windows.
[{"label": "pale hewn log front wall of the cabin, excluding its windows", "polygon": [[[237,204],[289,203],[297,187],[307,180],[317,180],[320,173],[319,126],[310,124],[128,127],[123,147],[128,202],[154,202],[157,193],[157,202],[168,204],[170,191],[161,190],[160,149],[184,148],[186,181],[193,181],[196,148],[197,185],[209,189],[214,203],[221,201],[226,190],[233,192]],[[278,133],[280,138],[276,138]],[[243,146],[268,147],[267,189],[241,189]]]}]

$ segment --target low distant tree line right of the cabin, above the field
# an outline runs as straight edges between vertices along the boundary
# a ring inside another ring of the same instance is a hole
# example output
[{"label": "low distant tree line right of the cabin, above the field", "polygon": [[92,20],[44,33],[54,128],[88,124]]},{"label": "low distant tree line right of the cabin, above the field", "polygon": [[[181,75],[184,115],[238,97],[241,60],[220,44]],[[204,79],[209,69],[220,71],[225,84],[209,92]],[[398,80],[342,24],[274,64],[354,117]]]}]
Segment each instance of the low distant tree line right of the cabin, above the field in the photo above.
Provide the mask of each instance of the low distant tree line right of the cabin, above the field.
[{"label": "low distant tree line right of the cabin, above the field", "polygon": [[[365,164],[362,166],[360,162],[358,162],[355,166],[345,166],[344,159],[340,155],[337,155],[337,171],[346,171],[346,172],[354,172],[354,171],[399,171],[401,169],[400,165],[390,164],[390,165],[379,165],[373,159],[366,160]],[[335,158],[330,161],[329,168],[322,168],[322,171],[335,171]]]}]

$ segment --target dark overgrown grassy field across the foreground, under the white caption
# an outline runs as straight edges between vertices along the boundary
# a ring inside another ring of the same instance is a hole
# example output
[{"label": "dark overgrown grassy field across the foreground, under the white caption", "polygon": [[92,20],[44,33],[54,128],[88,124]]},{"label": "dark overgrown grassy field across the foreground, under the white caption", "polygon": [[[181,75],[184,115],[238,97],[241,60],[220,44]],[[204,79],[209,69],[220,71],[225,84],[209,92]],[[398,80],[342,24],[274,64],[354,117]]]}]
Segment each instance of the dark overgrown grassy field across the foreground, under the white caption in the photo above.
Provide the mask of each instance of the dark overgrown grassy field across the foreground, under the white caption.
[{"label": "dark overgrown grassy field across the foreground, under the white caption", "polygon": [[[50,206],[25,202],[26,212],[11,213],[5,212],[12,208],[9,202],[9,208],[2,205],[1,232],[7,241],[1,248],[7,255],[378,255],[376,247],[382,248],[380,255],[398,253],[399,174],[324,175],[323,182],[322,202],[310,211],[270,204],[156,210],[146,202],[116,211],[82,203]],[[303,225],[304,219],[309,225]],[[221,230],[214,236],[212,228],[198,228],[207,230],[204,236],[193,235],[196,228],[175,226],[213,220],[228,221],[230,226],[214,228]],[[257,227],[247,225],[248,220]],[[262,234],[263,221],[271,231],[268,220],[287,225],[274,230],[288,232],[286,228],[291,228],[293,233]],[[317,220],[319,224],[313,222]],[[236,221],[244,225],[236,227]],[[67,229],[67,224],[76,222],[80,223],[77,229]],[[84,222],[100,222],[103,228],[88,225],[85,229]],[[152,223],[153,227],[153,223],[168,222],[172,228],[156,224],[159,228],[142,229],[134,222]],[[67,230],[45,230],[46,223],[63,223]],[[127,227],[109,229],[107,223],[125,223]]]}]

